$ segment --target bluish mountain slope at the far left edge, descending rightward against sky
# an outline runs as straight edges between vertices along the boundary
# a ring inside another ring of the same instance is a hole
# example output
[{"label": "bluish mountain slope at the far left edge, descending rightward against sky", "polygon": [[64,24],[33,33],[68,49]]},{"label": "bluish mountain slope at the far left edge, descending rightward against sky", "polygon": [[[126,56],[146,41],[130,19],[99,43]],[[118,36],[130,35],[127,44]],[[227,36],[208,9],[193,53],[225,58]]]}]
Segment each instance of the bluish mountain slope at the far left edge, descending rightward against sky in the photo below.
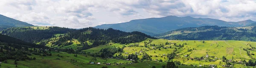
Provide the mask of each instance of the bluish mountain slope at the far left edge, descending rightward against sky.
[{"label": "bluish mountain slope at the far left edge, descending rightward against sky", "polygon": [[34,25],[0,15],[0,31],[9,27],[27,27],[27,26],[34,26]]}]

